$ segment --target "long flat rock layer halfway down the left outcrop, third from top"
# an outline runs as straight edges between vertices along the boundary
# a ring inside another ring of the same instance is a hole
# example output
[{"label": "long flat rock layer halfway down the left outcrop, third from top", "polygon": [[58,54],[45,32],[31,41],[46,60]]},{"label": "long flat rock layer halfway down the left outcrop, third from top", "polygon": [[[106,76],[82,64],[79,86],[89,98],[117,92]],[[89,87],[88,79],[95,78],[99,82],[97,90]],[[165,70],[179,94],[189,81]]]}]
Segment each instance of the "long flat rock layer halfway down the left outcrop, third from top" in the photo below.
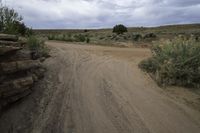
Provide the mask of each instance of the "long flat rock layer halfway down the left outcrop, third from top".
[{"label": "long flat rock layer halfway down the left outcrop, third from top", "polygon": [[24,71],[31,68],[37,68],[41,65],[39,60],[25,60],[8,63],[0,63],[0,73],[9,74],[17,71]]}]

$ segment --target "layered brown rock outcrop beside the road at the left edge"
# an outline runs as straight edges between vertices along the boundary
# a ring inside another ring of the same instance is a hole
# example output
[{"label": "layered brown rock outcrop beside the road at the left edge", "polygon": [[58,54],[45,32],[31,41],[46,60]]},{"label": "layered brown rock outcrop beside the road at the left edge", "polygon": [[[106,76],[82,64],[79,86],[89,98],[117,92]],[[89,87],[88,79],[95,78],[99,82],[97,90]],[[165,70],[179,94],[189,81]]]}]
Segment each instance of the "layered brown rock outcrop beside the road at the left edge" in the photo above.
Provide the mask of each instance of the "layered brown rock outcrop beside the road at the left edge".
[{"label": "layered brown rock outcrop beside the road at the left edge", "polygon": [[0,111],[31,93],[45,69],[15,35],[0,34]]}]

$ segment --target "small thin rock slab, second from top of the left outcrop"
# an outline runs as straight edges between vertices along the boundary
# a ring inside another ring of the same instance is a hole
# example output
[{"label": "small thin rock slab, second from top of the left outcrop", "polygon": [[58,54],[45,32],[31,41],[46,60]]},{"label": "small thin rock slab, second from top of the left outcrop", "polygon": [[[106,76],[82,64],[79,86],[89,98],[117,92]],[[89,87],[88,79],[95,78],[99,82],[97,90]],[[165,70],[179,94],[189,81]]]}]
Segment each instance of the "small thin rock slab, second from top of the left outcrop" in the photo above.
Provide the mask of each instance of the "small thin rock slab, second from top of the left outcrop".
[{"label": "small thin rock slab, second from top of the left outcrop", "polygon": [[5,55],[7,53],[16,52],[21,49],[22,49],[21,47],[0,46],[0,55]]}]

